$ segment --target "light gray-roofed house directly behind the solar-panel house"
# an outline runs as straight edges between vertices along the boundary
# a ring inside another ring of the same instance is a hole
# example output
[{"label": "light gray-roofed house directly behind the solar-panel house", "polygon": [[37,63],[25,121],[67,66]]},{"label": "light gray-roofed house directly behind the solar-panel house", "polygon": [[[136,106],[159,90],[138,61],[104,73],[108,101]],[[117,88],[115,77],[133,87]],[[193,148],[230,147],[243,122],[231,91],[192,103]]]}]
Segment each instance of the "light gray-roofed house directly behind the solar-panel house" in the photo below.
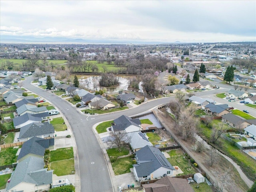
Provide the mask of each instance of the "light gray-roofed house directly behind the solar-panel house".
[{"label": "light gray-roofed house directly behind the solar-panel house", "polygon": [[141,131],[129,133],[128,136],[130,137],[129,143],[133,152],[140,150],[146,145],[153,146],[153,144]]}]

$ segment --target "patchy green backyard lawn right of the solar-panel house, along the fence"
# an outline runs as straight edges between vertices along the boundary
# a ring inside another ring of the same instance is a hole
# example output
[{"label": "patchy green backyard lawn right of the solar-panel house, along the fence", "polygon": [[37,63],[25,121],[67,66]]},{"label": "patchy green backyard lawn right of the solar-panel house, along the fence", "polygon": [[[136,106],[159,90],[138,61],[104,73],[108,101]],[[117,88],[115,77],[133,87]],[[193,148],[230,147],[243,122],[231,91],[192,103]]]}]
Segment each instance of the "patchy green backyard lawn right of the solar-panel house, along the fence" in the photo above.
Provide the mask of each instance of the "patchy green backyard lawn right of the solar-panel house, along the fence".
[{"label": "patchy green backyard lawn right of the solar-panel house, along the fence", "polygon": [[179,175],[196,173],[196,170],[194,169],[192,164],[189,163],[188,158],[184,155],[181,149],[170,150],[168,154],[170,155],[170,158],[167,158],[167,160],[170,162],[170,164],[172,166],[178,166],[183,171],[183,174]]}]

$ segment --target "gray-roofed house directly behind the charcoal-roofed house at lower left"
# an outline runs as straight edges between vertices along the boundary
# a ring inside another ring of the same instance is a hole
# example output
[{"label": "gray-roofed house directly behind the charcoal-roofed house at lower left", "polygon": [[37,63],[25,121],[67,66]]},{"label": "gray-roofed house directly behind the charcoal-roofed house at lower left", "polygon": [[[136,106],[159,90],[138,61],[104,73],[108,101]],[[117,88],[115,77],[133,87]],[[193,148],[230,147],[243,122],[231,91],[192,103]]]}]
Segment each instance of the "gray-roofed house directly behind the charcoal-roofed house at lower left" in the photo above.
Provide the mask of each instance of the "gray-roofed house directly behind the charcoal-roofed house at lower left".
[{"label": "gray-roofed house directly behind the charcoal-roofed house at lower left", "polygon": [[49,122],[31,123],[20,128],[19,141],[24,142],[32,137],[54,137],[54,127]]}]

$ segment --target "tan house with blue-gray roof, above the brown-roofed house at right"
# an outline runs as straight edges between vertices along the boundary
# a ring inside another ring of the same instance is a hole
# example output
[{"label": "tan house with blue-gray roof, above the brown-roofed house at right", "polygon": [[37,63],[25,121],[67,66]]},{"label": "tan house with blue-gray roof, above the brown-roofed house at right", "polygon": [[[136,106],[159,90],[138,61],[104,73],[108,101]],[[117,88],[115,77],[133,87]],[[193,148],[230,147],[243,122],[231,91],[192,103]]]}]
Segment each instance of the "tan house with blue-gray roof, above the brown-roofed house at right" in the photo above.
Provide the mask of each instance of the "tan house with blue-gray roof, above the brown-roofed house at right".
[{"label": "tan house with blue-gray roof, above the brown-roofed house at right", "polygon": [[228,108],[227,104],[215,105],[213,103],[209,103],[204,107],[204,111],[211,115],[221,117],[222,115],[229,113]]}]

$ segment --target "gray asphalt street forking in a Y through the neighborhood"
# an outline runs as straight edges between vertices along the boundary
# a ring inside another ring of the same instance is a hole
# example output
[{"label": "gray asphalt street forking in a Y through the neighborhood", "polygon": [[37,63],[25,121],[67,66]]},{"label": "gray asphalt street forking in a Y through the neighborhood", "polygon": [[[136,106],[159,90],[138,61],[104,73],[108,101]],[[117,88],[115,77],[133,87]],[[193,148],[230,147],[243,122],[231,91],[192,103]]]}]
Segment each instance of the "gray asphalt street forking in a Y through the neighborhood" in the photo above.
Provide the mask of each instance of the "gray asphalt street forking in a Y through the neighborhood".
[{"label": "gray asphalt street forking in a Y through the neighborhood", "polygon": [[[113,191],[110,175],[108,173],[108,167],[104,160],[104,155],[100,145],[92,130],[92,126],[98,122],[116,119],[123,114],[126,116],[140,114],[174,99],[174,97],[160,98],[150,100],[136,108],[131,108],[129,110],[114,112],[111,114],[86,116],[80,114],[75,107],[71,106],[59,96],[31,85],[30,82],[32,82],[32,79],[33,77],[29,77],[24,80],[23,87],[52,102],[52,104],[54,104],[64,114],[72,128],[78,150],[81,192]],[[226,90],[227,89],[205,91],[196,93],[196,95],[209,96],[212,94],[225,92]],[[94,164],[92,164],[92,162],[94,162]]]}]

